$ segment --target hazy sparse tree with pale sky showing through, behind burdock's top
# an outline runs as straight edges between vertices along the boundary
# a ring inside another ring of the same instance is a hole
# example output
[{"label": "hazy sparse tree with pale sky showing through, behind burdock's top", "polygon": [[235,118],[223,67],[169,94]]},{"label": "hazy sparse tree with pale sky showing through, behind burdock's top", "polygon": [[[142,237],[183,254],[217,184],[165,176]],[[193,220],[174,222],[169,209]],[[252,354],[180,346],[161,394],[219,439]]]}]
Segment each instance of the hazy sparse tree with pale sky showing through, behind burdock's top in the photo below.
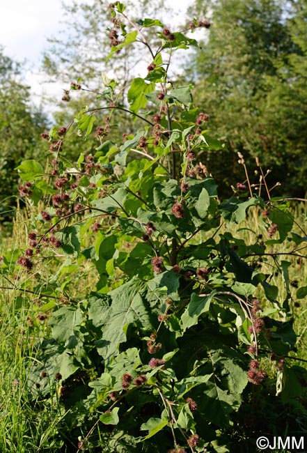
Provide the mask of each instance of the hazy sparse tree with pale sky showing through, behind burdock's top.
[{"label": "hazy sparse tree with pale sky showing through, behind burdock's top", "polygon": [[[130,17],[137,21],[145,15],[155,15],[162,6],[162,0],[155,0],[150,5],[145,0],[131,0],[125,14],[130,14]],[[167,8],[163,9],[167,12]],[[134,11],[133,15],[131,10]],[[143,14],[144,11],[146,13]],[[49,38],[49,47],[45,50],[42,67],[49,81],[63,82],[63,86],[67,86],[68,90],[71,82],[79,79],[82,96],[80,100],[77,93],[70,91],[69,95],[63,93],[62,99],[59,93],[58,100],[46,100],[56,103],[56,128],[67,125],[74,112],[78,112],[84,105],[91,105],[93,101],[96,105],[99,105],[99,102],[105,105],[107,100],[110,107],[127,107],[126,88],[138,72],[143,75],[147,72],[148,63],[144,62],[148,61],[149,51],[143,49],[142,45],[132,49],[132,52],[129,52],[131,49],[123,47],[111,60],[107,60],[112,45],[116,44],[122,31],[125,34],[125,24],[123,20],[118,20],[118,17],[112,17],[109,1],[63,3],[63,30],[56,38]],[[120,79],[120,86],[114,82],[116,93],[111,93],[107,86],[109,79]],[[94,130],[99,133],[98,128],[111,128],[113,141],[121,139],[120,130],[125,130],[129,135],[139,124],[137,118],[123,114],[120,109],[113,109],[109,121],[110,112],[106,107],[97,110]],[[69,146],[68,143],[65,146],[65,156],[70,160],[79,155],[80,140],[81,138],[71,135]],[[91,135],[86,140],[87,150],[90,151],[96,146],[97,139]]]}]

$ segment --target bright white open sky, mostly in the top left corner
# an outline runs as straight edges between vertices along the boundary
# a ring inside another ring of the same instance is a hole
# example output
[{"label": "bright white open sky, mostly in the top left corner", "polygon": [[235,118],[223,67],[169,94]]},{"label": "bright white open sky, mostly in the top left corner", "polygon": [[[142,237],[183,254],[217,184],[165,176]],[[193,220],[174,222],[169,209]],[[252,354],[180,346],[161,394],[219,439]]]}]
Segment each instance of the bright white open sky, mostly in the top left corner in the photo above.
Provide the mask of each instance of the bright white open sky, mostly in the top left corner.
[{"label": "bright white open sky, mostly in the top left corner", "polygon": [[[69,1],[65,0],[65,3]],[[57,31],[61,30],[61,3],[62,0],[0,1],[0,45],[5,55],[16,61],[26,61],[23,82],[31,86],[36,105],[42,93],[53,95],[61,90],[55,84],[47,84],[40,71],[47,38],[56,36]],[[174,9],[173,20],[176,15],[184,15],[190,3],[191,0],[166,0],[167,6]]]}]

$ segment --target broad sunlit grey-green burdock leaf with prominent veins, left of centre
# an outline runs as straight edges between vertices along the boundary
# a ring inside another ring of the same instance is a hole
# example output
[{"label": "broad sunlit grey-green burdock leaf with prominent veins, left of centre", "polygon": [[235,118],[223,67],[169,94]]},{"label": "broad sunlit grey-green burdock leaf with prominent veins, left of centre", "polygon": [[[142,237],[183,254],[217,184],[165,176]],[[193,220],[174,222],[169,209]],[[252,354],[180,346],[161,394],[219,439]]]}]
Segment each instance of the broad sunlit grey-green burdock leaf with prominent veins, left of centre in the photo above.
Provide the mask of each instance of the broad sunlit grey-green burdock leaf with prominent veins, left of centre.
[{"label": "broad sunlit grey-green burdock leaf with prominent veins, left of centre", "polygon": [[102,325],[102,339],[97,343],[97,351],[106,362],[118,353],[118,346],[125,341],[130,324],[137,323],[143,329],[151,327],[148,307],[141,296],[142,289],[143,282],[133,278],[109,293],[108,321]]}]

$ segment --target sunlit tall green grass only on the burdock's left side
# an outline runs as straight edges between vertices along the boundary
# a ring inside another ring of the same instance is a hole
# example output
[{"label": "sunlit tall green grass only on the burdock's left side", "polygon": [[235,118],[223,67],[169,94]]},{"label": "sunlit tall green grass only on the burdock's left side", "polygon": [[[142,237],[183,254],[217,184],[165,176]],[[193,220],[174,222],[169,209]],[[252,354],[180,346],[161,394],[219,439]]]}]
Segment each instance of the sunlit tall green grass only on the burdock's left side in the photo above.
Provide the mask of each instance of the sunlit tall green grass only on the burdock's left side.
[{"label": "sunlit tall green grass only on the burdock's left side", "polygon": [[[0,255],[11,251],[13,256],[25,243],[29,222],[26,211],[18,212],[13,234],[1,231]],[[35,345],[43,326],[29,321],[37,306],[33,295],[22,291],[24,275],[12,274],[8,269],[0,280],[0,452],[57,452],[63,415],[59,408],[32,401],[27,387],[27,370],[37,360]]]}]

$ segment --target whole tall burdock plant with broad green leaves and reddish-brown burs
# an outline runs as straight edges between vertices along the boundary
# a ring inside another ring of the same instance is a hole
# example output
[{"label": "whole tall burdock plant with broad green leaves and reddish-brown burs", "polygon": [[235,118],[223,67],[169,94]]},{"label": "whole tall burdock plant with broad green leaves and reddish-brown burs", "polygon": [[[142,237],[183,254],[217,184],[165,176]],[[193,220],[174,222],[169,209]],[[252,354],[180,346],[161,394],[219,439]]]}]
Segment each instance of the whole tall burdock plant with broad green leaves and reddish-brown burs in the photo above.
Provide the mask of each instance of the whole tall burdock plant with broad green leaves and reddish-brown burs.
[{"label": "whole tall burdock plant with broad green leaves and reddish-brown burs", "polygon": [[[103,75],[93,107],[42,135],[49,173],[36,160],[18,167],[19,190],[40,214],[26,247],[3,257],[1,273],[10,281],[17,261],[22,290],[37,281],[39,312],[29,325],[46,329],[29,361],[28,399],[61,408],[54,436],[63,452],[247,452],[285,425],[300,435],[307,374],[291,360],[290,262],[265,251],[276,243],[301,259],[306,233],[292,231],[287,202],[268,191],[262,198],[250,187],[248,197],[241,184],[240,195],[220,201],[201,162],[223,144],[208,135],[209,116],[191,87],[173,86],[168,70],[174,52],[197,45],[188,32],[207,32],[210,22],[175,32],[159,20],[129,20],[119,2],[110,12],[108,58],[143,45],[145,77],[132,80],[120,104],[121,85]],[[80,89],[76,80],[65,95]],[[142,126],[115,143],[118,109]],[[77,162],[65,157],[73,133]],[[251,227],[245,243],[231,225],[255,210],[266,236]],[[271,259],[283,293],[261,259]],[[37,273],[38,263],[56,270]],[[301,287],[296,298],[306,293]]]}]

